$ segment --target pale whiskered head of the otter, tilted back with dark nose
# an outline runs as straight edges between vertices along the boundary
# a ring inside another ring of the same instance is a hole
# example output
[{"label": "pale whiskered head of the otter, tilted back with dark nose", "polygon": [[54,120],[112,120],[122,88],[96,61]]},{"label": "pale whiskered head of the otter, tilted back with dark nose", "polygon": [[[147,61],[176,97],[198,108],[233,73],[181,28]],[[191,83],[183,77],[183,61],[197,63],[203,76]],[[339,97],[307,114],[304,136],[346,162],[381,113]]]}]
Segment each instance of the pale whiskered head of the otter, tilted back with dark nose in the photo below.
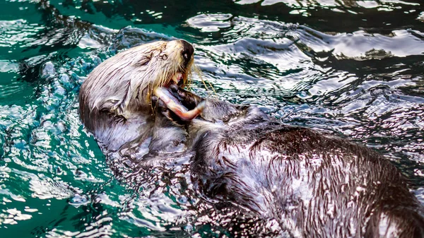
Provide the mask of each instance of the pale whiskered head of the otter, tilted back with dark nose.
[{"label": "pale whiskered head of the otter, tilted back with dark nose", "polygon": [[81,85],[80,114],[90,131],[110,126],[107,114],[122,121],[151,114],[151,95],[158,87],[187,84],[194,48],[184,40],[153,42],[127,49],[102,62]]}]

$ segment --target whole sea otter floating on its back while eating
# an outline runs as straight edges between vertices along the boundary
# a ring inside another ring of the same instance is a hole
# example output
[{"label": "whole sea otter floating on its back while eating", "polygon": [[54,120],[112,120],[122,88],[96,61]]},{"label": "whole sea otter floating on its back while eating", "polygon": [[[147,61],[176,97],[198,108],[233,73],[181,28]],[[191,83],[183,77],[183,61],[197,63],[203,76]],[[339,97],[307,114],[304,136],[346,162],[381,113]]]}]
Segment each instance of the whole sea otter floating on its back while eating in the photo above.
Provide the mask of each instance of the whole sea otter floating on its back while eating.
[{"label": "whole sea otter floating on its back while eating", "polygon": [[[100,64],[80,92],[81,119],[100,145],[146,143],[149,161],[190,155],[202,194],[274,218],[292,237],[424,237],[423,207],[382,155],[257,107],[189,93],[182,85],[193,52],[188,42],[160,42]],[[167,67],[148,68],[146,57]]]}]

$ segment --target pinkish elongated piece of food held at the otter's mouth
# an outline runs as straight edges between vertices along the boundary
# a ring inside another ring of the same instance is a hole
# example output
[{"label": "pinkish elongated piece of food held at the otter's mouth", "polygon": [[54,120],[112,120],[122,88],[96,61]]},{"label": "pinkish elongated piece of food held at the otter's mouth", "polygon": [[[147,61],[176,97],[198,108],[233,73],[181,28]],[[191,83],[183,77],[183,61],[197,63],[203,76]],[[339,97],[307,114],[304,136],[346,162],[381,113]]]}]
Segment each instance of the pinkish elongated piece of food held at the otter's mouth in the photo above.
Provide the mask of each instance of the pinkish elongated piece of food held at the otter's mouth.
[{"label": "pinkish elongated piece of food held at the otter's mouth", "polygon": [[155,88],[153,94],[162,100],[166,107],[174,112],[180,119],[184,121],[191,121],[199,116],[205,107],[205,102],[200,102],[199,105],[192,110],[184,107],[166,88]]}]

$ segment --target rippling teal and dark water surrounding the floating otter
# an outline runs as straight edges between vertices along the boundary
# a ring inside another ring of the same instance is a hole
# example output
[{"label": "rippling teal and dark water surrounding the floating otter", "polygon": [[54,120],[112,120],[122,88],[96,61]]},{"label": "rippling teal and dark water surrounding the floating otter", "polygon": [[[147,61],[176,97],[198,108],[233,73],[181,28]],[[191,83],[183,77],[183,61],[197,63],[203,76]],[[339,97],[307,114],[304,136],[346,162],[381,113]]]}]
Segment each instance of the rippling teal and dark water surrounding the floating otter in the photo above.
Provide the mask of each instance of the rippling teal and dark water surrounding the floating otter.
[{"label": "rippling teal and dark water surrounding the floating otter", "polygon": [[216,91],[195,93],[364,143],[424,202],[423,32],[418,0],[1,1],[0,237],[284,236],[202,198],[188,158],[139,170],[83,129],[96,65],[175,38]]}]

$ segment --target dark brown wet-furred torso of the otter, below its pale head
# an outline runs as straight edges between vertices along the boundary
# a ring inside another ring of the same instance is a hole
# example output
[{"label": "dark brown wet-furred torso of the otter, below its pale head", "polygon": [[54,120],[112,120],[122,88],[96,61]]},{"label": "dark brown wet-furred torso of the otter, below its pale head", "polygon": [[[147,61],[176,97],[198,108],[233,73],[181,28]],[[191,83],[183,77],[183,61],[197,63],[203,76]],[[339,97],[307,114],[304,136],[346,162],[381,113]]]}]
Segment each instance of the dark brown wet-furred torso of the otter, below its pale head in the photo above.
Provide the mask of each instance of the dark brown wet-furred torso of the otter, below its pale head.
[{"label": "dark brown wet-furred torso of the otter, below its pale head", "polygon": [[[202,100],[173,90],[187,107]],[[363,145],[211,99],[186,126],[199,189],[275,218],[293,237],[424,237],[404,177]]]}]

